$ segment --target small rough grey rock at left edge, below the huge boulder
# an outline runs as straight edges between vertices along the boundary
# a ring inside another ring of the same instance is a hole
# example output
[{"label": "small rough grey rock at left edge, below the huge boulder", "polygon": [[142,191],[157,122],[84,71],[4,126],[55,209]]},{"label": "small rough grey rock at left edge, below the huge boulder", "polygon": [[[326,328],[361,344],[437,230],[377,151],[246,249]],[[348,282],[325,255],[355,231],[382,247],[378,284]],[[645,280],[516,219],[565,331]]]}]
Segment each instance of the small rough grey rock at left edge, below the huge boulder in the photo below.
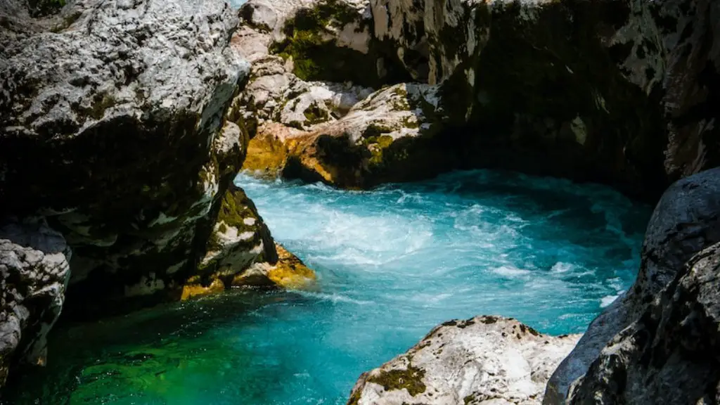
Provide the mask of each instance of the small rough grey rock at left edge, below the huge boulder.
[{"label": "small rough grey rock at left edge, below the huge boulder", "polygon": [[60,315],[70,249],[44,223],[0,229],[0,386],[14,360],[44,364],[46,336]]}]

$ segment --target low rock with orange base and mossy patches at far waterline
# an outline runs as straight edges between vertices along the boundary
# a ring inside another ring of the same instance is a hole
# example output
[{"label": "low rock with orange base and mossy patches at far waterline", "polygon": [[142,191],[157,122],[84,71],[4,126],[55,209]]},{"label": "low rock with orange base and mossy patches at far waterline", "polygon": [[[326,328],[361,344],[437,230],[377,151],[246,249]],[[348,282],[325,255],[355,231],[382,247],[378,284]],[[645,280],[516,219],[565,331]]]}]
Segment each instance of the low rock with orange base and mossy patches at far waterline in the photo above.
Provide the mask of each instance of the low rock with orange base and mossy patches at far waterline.
[{"label": "low rock with orange base and mossy patches at far waterline", "polygon": [[397,84],[310,130],[261,125],[249,146],[256,157],[243,167],[348,188],[437,174],[452,166],[454,153],[434,136],[441,125],[436,91]]}]

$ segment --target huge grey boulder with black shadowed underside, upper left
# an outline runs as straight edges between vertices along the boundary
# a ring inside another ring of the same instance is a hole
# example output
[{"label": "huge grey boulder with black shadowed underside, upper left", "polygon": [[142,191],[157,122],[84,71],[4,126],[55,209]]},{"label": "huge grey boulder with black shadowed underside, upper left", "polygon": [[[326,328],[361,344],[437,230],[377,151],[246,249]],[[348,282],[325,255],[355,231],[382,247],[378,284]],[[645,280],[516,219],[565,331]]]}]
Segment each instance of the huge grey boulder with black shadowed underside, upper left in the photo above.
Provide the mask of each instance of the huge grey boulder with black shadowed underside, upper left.
[{"label": "huge grey boulder with black shadowed underside, upper left", "polygon": [[[246,231],[207,249],[249,138],[228,108],[250,74],[230,41],[235,10],[76,0],[32,19],[23,9],[0,1],[0,212],[44,215],[72,246],[68,313],[180,298],[209,255],[233,272],[274,255],[271,242],[241,243]],[[258,232],[248,240],[269,239],[244,204]]]}]

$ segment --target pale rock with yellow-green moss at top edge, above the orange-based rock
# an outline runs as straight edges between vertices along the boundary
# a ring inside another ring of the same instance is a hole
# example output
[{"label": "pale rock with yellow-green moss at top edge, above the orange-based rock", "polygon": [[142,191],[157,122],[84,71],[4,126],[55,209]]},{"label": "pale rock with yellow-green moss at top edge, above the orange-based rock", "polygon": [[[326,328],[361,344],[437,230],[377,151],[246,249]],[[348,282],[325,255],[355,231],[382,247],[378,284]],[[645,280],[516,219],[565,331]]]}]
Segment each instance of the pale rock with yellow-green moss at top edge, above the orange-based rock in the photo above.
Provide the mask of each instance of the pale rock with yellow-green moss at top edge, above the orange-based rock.
[{"label": "pale rock with yellow-green moss at top edge, above the orange-based rock", "polygon": [[[276,21],[271,51],[302,80],[377,88],[407,77],[390,63],[386,66],[379,44],[372,41],[372,14],[365,0],[281,0],[271,5],[250,0],[240,14],[261,31],[269,31],[269,22]],[[269,14],[277,17],[267,18]]]}]

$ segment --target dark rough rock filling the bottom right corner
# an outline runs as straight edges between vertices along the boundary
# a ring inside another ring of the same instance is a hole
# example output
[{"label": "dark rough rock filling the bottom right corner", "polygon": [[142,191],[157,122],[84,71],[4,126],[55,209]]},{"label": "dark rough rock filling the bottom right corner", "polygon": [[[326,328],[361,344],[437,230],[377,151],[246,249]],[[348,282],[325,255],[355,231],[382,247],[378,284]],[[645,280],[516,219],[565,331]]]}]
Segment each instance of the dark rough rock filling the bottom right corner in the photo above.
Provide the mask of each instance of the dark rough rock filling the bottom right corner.
[{"label": "dark rough rock filling the bottom right corner", "polygon": [[720,402],[720,244],[688,261],[573,384],[569,404]]}]

